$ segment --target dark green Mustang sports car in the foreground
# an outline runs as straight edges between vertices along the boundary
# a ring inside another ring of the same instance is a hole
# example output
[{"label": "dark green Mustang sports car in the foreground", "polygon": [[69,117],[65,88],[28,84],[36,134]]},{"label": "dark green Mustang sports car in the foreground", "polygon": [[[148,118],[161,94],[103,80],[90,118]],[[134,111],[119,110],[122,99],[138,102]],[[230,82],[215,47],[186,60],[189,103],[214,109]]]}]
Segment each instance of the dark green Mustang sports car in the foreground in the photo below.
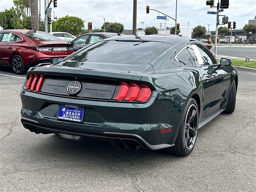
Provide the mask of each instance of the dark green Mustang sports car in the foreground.
[{"label": "dark green Mustang sports car in the foreground", "polygon": [[235,109],[238,74],[196,40],[118,36],[30,68],[21,121],[36,134],[187,156],[198,129]]}]

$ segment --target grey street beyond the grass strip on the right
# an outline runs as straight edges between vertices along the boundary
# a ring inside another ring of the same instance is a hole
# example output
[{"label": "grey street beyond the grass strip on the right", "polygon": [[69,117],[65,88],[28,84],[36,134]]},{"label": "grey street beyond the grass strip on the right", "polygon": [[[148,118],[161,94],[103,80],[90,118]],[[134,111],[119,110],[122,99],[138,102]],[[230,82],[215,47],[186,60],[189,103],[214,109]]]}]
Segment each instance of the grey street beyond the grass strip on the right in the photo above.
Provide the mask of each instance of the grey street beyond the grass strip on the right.
[{"label": "grey street beyond the grass strip on the right", "polygon": [[[214,46],[212,47],[214,51]],[[217,48],[217,55],[225,55],[232,57],[245,58],[250,57],[251,59],[256,59],[256,47],[244,46],[244,47],[228,47],[220,46]]]}]

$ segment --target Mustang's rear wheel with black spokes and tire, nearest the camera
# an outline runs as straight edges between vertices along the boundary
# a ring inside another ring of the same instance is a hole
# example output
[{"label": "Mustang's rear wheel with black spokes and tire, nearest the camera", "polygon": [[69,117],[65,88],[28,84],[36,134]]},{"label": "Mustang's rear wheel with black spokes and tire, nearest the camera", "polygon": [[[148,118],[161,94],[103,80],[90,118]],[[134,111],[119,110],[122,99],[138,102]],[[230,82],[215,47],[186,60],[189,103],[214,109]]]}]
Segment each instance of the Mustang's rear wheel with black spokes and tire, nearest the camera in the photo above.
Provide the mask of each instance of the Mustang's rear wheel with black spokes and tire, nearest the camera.
[{"label": "Mustang's rear wheel with black spokes and tire, nearest the camera", "polygon": [[182,115],[182,121],[175,140],[175,146],[166,149],[167,152],[176,156],[188,156],[195,146],[197,130],[198,106],[196,100],[190,98],[184,110],[184,114]]}]

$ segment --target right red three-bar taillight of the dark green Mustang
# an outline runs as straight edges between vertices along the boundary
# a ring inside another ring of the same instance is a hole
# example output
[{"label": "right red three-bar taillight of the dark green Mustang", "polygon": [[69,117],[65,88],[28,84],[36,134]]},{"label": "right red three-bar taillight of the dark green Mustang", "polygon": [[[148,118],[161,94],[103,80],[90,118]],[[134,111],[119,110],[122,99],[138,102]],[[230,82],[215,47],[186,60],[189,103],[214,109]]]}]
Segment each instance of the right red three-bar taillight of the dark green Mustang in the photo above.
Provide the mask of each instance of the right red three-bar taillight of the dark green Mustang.
[{"label": "right red three-bar taillight of the dark green Mustang", "polygon": [[147,101],[152,94],[152,90],[148,85],[120,82],[118,93],[114,100],[117,101]]}]

